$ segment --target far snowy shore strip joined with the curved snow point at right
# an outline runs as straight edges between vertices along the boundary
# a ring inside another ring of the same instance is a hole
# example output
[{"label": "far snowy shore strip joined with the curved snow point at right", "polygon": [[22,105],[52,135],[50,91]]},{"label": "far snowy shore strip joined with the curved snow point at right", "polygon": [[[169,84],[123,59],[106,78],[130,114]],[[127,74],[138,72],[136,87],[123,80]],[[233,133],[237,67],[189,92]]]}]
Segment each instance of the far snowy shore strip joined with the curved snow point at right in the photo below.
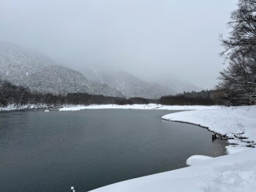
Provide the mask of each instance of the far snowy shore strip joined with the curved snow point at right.
[{"label": "far snowy shore strip joined with the curved snow point at right", "polygon": [[230,144],[247,146],[254,145],[256,142],[256,106],[164,106],[150,103],[148,105],[69,106],[59,110],[75,111],[82,109],[190,110],[168,114],[163,116],[162,119],[207,127],[210,131],[226,135]]}]

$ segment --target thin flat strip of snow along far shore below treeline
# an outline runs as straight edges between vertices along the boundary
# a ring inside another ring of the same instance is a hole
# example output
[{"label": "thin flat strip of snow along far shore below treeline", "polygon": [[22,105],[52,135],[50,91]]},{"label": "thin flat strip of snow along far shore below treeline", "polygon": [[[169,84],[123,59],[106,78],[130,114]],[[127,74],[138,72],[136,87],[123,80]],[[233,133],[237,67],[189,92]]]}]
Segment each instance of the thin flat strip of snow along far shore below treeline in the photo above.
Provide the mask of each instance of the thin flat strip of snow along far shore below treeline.
[{"label": "thin flat strip of snow along far shore below treeline", "polygon": [[90,105],[90,106],[70,106],[60,108],[60,111],[73,111],[82,109],[165,109],[165,110],[202,110],[215,109],[220,106],[164,106],[150,103],[148,105]]}]

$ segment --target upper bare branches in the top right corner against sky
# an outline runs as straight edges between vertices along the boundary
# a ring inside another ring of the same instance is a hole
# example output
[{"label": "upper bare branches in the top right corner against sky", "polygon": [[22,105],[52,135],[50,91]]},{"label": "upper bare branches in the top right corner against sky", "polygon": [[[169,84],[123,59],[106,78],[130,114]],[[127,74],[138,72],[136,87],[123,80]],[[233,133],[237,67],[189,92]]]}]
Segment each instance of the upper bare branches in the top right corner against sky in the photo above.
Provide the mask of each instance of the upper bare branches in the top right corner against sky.
[{"label": "upper bare branches in the top right corner against sky", "polygon": [[256,0],[239,0],[238,9],[231,13],[229,37],[220,35],[225,50],[221,55],[231,59],[239,54],[250,55],[256,51]]}]

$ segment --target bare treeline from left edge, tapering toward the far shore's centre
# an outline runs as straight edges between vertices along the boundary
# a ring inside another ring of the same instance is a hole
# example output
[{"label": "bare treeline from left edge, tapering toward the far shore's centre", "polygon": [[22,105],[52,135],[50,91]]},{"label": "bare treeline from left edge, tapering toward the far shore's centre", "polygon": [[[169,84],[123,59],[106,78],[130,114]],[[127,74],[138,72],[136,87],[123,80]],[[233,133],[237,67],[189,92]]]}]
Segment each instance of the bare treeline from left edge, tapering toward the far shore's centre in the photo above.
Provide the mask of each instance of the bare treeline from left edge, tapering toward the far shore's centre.
[{"label": "bare treeline from left edge, tapering toward the far shore's centre", "polygon": [[63,105],[103,105],[103,104],[147,104],[150,100],[143,98],[119,98],[92,95],[87,93],[52,94],[31,91],[28,87],[17,86],[8,81],[0,81],[0,107],[12,105],[19,109],[21,106],[51,106]]}]

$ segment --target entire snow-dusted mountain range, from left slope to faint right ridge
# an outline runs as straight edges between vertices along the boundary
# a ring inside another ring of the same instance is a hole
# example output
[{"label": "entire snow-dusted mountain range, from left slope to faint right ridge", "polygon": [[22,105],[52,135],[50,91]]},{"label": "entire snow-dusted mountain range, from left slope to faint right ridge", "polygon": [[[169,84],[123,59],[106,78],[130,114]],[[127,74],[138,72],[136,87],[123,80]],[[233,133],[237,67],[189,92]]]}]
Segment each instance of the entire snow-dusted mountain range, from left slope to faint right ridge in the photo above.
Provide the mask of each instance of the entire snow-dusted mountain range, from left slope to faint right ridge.
[{"label": "entire snow-dusted mountain range, from left slope to faint right ridge", "polygon": [[97,68],[74,70],[61,66],[42,52],[7,42],[0,43],[0,79],[44,93],[83,92],[126,98],[156,99],[183,91],[202,90],[174,78],[170,81],[156,79],[156,83],[151,83],[125,71]]}]

